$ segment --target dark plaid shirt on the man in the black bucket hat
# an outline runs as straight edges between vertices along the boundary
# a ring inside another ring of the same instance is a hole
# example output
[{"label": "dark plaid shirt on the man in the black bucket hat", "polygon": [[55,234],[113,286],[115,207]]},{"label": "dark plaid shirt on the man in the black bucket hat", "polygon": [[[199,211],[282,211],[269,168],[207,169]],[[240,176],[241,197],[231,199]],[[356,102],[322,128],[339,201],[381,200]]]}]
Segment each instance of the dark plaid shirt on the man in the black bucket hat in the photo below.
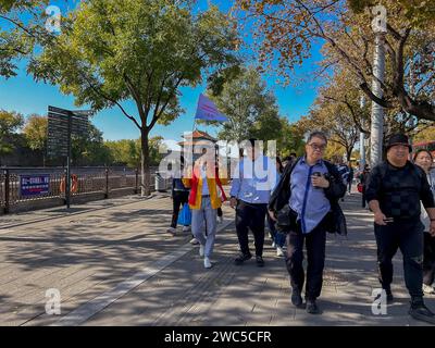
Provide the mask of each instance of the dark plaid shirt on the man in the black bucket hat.
[{"label": "dark plaid shirt on the man in the black bucket hat", "polygon": [[402,167],[388,162],[376,165],[369,176],[365,196],[369,202],[377,200],[387,217],[399,220],[420,219],[420,201],[425,208],[435,208],[426,175],[409,161]]}]

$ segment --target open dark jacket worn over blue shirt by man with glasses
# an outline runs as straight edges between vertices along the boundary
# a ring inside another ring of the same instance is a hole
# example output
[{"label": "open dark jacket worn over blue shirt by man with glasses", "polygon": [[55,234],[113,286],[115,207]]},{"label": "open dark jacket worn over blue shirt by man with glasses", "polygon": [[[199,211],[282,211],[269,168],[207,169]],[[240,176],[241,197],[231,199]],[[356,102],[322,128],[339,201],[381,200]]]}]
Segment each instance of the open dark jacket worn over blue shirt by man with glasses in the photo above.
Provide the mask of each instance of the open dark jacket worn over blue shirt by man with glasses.
[{"label": "open dark jacket worn over blue shirt by man with glasses", "polygon": [[[300,158],[294,161],[291,165],[285,167],[284,174],[269,200],[268,209],[273,211],[275,216],[278,216],[281,211],[284,211],[285,214],[287,214],[287,211],[289,210],[288,200],[291,196],[290,176],[299,160]],[[330,187],[324,188],[324,191],[331,203],[326,231],[330,233],[338,233],[339,235],[347,235],[346,217],[338,203],[338,200],[346,194],[346,185],[343,183],[341,176],[336,166],[328,161],[323,160],[323,162],[328,171],[328,176],[326,178],[330,182]]]}]

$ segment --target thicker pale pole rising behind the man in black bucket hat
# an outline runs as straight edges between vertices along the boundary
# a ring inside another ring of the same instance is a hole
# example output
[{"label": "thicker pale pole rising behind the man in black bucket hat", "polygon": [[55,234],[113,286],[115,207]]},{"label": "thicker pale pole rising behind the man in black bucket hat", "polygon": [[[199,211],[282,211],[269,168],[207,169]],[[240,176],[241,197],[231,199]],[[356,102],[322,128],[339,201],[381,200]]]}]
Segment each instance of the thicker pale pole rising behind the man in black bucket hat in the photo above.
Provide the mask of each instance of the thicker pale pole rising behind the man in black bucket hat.
[{"label": "thicker pale pole rising behind the man in black bucket hat", "polygon": [[[385,77],[385,34],[386,9],[383,5],[373,8],[375,17],[372,21],[372,28],[375,33],[375,48],[373,58],[373,82],[372,90],[377,98],[383,97],[382,85]],[[384,138],[384,108],[372,101],[372,126],[370,138],[370,165],[375,166],[382,161],[383,138]]]}]

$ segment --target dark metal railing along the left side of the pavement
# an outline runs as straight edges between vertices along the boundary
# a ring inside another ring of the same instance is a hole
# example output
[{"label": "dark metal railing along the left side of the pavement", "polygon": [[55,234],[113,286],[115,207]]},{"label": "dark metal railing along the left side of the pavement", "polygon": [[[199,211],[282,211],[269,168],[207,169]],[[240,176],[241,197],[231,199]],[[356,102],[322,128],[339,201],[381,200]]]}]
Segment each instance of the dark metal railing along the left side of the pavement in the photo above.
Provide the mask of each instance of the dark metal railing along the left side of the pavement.
[{"label": "dark metal railing along the left side of the pavement", "polygon": [[[151,167],[151,190],[154,190],[157,167]],[[49,175],[47,194],[23,196],[21,175]],[[115,190],[128,189],[138,194],[140,190],[140,172],[127,167],[73,167],[72,175],[77,176],[77,189],[72,197],[89,194],[103,194],[109,198]],[[65,178],[63,167],[1,167],[0,169],[0,212],[9,213],[11,207],[28,201],[40,201],[52,198],[64,199],[61,183]],[[165,181],[166,189],[171,187]]]}]

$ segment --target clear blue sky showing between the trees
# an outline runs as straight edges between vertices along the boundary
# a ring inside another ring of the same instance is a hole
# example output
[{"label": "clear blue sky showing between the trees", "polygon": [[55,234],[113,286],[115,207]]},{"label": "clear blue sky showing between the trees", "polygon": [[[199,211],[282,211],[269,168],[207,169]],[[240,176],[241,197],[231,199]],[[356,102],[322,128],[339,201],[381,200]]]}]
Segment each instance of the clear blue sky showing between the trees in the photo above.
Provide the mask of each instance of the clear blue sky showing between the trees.
[{"label": "clear blue sky showing between the trees", "polygon": [[[210,1],[210,0],[209,0]],[[74,7],[77,0],[70,0],[69,5]],[[214,0],[210,1],[220,7],[221,10],[227,11],[232,1]],[[62,1],[52,1],[52,4],[60,4]],[[198,9],[204,10],[208,7],[207,0],[198,1]],[[61,5],[62,11],[65,7]],[[319,52],[320,47],[314,46],[312,58],[307,60],[296,73],[304,76],[306,83],[297,88],[293,86],[283,87],[275,84],[275,78],[265,77],[268,87],[275,94],[281,115],[288,117],[291,122],[297,121],[304,115],[316,96],[318,83],[314,82],[310,74],[313,70],[315,61],[321,59]],[[47,107],[55,105],[59,108],[75,110],[74,97],[64,96],[59,91],[57,86],[46,85],[44,83],[35,83],[32,76],[27,76],[24,62],[20,64],[20,72],[16,77],[4,79],[0,77],[0,109],[9,111],[18,111],[24,115],[32,113],[46,114]],[[177,120],[169,126],[156,125],[151,132],[151,136],[161,135],[165,139],[179,140],[184,132],[189,132],[194,125],[194,115],[196,104],[200,92],[203,92],[206,85],[197,88],[182,88],[181,105],[185,110]],[[135,107],[130,102],[124,103],[127,111],[135,112]],[[82,109],[87,109],[86,105]],[[137,127],[127,120],[117,108],[103,110],[92,117],[92,123],[103,132],[104,139],[133,139],[139,137]],[[207,130],[212,135],[216,134],[216,128],[211,126],[200,126],[200,129]]]}]

